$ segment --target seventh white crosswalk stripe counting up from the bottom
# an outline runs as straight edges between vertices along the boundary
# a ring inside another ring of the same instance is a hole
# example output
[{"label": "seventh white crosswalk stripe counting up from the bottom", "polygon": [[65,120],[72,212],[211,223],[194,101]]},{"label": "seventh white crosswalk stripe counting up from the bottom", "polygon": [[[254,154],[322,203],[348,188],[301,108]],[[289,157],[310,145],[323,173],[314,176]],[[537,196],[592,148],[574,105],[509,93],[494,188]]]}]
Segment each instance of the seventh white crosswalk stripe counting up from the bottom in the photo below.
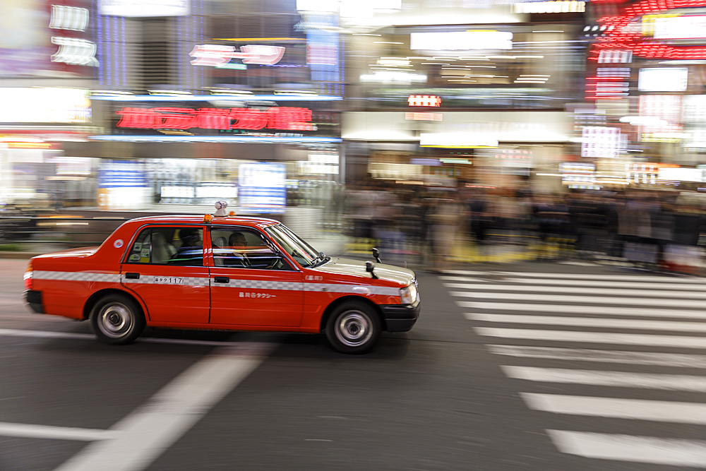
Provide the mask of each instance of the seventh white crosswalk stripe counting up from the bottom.
[{"label": "seventh white crosswalk stripe counting up from the bottom", "polygon": [[582,306],[580,304],[525,304],[519,302],[457,301],[460,307],[487,311],[560,312],[561,314],[610,314],[611,316],[681,317],[706,319],[706,310],[649,309],[646,307]]}]

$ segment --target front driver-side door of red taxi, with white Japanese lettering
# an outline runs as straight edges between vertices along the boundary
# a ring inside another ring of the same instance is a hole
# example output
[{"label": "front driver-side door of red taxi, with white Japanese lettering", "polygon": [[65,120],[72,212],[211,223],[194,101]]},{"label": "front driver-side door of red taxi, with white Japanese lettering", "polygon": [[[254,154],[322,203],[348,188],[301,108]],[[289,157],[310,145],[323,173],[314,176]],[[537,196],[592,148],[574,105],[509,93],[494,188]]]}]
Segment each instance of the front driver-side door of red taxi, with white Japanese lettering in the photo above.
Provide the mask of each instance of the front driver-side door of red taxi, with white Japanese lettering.
[{"label": "front driver-side door of red taxi, with white Japanese lettering", "polygon": [[211,227],[211,324],[249,328],[301,325],[303,275],[252,227]]}]

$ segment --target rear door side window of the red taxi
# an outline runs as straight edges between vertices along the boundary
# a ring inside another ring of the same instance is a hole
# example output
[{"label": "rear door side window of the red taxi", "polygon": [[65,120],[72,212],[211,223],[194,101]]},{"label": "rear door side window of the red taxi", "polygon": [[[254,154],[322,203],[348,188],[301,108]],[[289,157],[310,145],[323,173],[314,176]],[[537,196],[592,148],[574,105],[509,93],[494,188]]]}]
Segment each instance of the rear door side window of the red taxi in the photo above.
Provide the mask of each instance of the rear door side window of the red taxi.
[{"label": "rear door side window of the red taxi", "polygon": [[130,247],[127,263],[203,266],[203,229],[148,227]]}]

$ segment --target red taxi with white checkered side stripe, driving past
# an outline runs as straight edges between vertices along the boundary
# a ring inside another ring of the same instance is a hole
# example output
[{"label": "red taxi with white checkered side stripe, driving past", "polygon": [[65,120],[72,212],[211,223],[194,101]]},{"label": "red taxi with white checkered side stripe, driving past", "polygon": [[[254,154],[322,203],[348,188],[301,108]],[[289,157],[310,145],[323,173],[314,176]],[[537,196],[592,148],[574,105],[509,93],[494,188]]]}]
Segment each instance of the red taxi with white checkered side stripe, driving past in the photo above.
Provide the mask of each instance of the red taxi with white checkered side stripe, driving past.
[{"label": "red taxi with white checkered side stripe, driving past", "polygon": [[25,289],[33,311],[89,319],[112,344],[145,326],[270,330],[364,353],[420,310],[412,270],[331,258],[280,222],[234,215],[129,220],[100,247],[32,258]]}]

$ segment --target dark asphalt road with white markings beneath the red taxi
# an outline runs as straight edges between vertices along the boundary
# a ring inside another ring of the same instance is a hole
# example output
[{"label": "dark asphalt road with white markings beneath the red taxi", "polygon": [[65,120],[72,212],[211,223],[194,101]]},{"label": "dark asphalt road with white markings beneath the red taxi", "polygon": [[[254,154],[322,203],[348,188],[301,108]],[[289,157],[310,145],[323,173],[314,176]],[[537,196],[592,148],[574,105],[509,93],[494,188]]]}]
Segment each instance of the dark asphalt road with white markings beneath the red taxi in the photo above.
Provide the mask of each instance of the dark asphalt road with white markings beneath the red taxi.
[{"label": "dark asphalt road with white markings beneath the red taxi", "polygon": [[700,280],[419,272],[412,331],[348,356],[321,335],[102,345],[30,313],[25,263],[0,261],[1,471],[706,467]]}]

